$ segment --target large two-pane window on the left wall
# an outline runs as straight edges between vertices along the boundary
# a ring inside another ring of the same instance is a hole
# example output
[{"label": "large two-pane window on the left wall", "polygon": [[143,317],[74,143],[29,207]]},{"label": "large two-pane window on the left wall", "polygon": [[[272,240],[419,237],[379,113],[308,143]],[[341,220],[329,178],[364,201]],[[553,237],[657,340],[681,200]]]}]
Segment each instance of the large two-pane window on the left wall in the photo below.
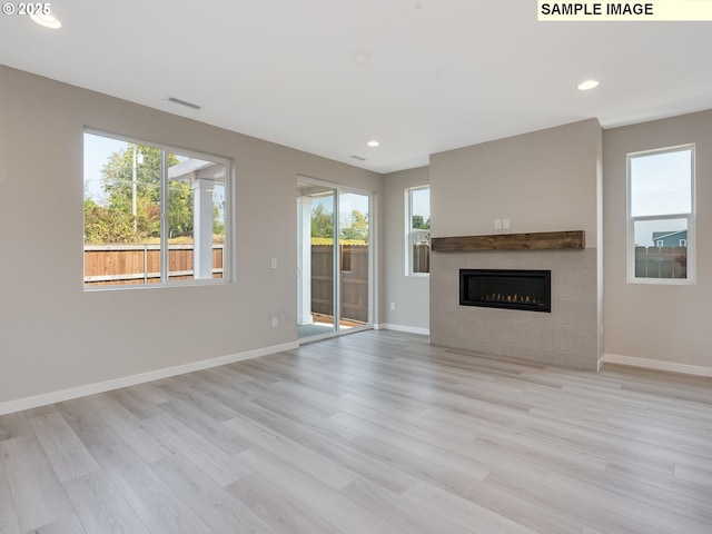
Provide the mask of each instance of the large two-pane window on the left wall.
[{"label": "large two-pane window on the left wall", "polygon": [[229,177],[222,158],[85,132],[85,288],[229,279]]}]

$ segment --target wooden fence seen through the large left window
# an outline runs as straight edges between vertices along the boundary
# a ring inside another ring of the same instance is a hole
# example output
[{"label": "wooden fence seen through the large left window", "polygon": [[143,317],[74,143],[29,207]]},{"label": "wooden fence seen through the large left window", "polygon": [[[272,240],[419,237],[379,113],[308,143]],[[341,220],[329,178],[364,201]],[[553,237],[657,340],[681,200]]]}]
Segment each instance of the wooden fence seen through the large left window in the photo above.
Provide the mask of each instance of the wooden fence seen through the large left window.
[{"label": "wooden fence seen through the large left window", "polygon": [[[168,246],[168,278],[192,279],[192,245]],[[212,278],[222,278],[222,245],[212,246]],[[160,245],[86,245],[85,285],[160,281]]]}]

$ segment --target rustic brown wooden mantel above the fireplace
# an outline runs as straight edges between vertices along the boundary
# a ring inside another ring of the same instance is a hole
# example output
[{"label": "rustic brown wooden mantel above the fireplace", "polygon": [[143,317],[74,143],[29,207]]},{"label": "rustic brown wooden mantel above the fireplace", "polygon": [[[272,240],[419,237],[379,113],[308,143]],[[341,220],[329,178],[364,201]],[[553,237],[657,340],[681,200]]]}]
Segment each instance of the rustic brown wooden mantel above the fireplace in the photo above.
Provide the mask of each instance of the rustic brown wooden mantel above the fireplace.
[{"label": "rustic brown wooden mantel above the fireplace", "polygon": [[583,230],[434,237],[431,247],[436,253],[583,249],[586,248],[586,238]]}]

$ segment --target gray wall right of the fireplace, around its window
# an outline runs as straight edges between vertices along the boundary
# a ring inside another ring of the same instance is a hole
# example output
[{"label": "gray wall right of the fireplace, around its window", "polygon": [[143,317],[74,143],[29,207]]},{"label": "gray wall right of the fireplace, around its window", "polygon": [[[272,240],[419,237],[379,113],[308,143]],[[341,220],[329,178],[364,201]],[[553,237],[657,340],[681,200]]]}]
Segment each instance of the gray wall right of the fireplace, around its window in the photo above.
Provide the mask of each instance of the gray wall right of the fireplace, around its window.
[{"label": "gray wall right of the fireplace, around its window", "polygon": [[[696,145],[698,283],[627,284],[626,154],[690,142]],[[712,368],[712,111],[605,130],[603,149],[605,352]]]}]

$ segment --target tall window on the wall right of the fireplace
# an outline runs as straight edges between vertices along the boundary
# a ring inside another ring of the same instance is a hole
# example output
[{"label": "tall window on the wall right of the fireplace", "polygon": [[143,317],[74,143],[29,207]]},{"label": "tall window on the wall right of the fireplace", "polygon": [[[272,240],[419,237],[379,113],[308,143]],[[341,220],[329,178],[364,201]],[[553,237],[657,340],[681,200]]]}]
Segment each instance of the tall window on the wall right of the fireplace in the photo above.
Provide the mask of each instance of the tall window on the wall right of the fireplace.
[{"label": "tall window on the wall right of the fireplace", "polygon": [[694,146],[627,157],[629,281],[694,283]]}]

